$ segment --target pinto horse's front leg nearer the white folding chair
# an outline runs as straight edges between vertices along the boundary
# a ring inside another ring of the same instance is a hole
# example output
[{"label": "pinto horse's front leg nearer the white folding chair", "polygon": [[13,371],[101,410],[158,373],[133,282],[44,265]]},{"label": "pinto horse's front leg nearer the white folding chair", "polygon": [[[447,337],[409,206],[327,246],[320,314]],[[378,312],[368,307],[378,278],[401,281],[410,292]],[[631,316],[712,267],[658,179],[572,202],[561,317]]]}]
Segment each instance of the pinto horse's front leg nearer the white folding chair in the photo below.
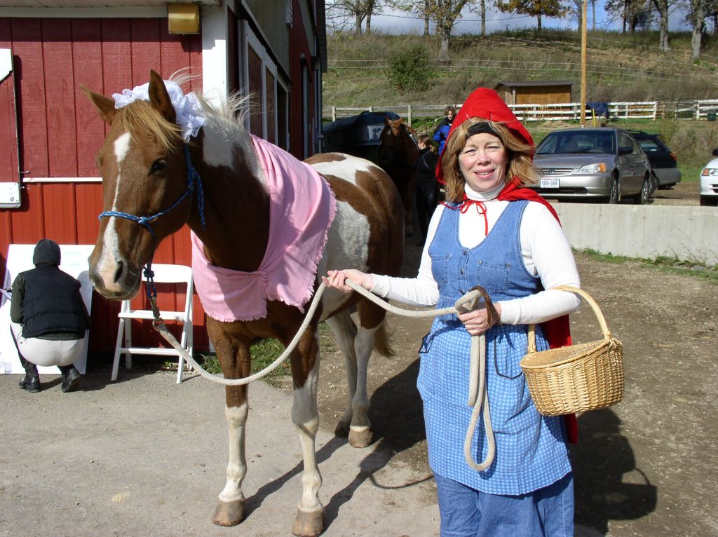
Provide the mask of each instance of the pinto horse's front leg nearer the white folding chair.
[{"label": "pinto horse's front leg nearer the white folding chair", "polygon": [[[208,331],[210,331],[208,320]],[[251,370],[251,357],[249,354],[249,340],[230,339],[223,333],[219,337],[210,338],[215,345],[217,358],[222,366],[225,378],[241,378],[249,375]],[[219,526],[236,526],[244,519],[245,498],[242,492],[242,482],[247,474],[247,459],[245,454],[246,423],[249,410],[247,386],[226,386],[225,393],[227,406],[225,419],[227,420],[229,449],[227,463],[227,481],[220,492],[217,508],[212,521]]]}]

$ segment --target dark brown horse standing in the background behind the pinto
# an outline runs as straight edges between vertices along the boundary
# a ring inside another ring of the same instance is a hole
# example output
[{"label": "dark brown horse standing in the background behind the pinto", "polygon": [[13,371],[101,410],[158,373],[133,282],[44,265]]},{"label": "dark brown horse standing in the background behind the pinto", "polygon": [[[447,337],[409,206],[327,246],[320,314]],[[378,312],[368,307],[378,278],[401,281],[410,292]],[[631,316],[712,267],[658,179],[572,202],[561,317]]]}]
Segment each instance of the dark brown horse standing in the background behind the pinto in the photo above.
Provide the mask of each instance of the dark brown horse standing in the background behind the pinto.
[{"label": "dark brown horse standing in the background behind the pinto", "polygon": [[384,118],[384,129],[379,136],[378,164],[389,174],[401,195],[404,207],[404,233],[414,235],[414,197],[416,196],[416,159],[419,146],[416,131],[404,118]]}]

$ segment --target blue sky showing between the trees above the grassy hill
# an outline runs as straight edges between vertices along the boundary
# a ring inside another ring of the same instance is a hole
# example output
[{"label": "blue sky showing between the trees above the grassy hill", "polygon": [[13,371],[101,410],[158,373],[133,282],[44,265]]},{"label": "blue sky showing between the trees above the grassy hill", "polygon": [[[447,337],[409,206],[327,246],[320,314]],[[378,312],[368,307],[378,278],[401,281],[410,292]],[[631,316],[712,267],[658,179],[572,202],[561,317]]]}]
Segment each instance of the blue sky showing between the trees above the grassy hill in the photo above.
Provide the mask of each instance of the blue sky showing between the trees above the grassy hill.
[{"label": "blue sky showing between the trees above the grassy hill", "polygon": [[[601,0],[596,2],[596,29],[606,30],[620,30],[621,21],[620,19],[611,20],[609,15],[603,9]],[[378,30],[388,34],[421,34],[424,32],[424,20],[417,18],[418,16],[406,11],[391,11],[388,9],[383,10],[382,14],[375,14],[371,18],[372,30]],[[684,15],[678,11],[672,11],[671,17],[669,18],[669,29],[687,29],[683,22]],[[657,23],[656,16],[656,23]],[[578,23],[575,18],[567,17],[564,19],[550,19],[544,17],[541,19],[541,23],[544,28],[571,28],[578,29]],[[592,8],[589,3],[588,6],[588,27],[591,29],[593,26]],[[654,27],[656,24],[654,24]],[[510,13],[501,13],[495,10],[486,10],[486,31],[488,33],[495,32],[497,30],[503,30],[506,27],[509,28],[534,28],[536,27],[536,17],[527,17],[512,15]],[[434,26],[431,27],[431,32],[434,32]],[[452,34],[459,35],[465,33],[478,34],[480,32],[480,18],[477,13],[472,13],[468,9],[462,11],[462,18],[454,26]]]}]

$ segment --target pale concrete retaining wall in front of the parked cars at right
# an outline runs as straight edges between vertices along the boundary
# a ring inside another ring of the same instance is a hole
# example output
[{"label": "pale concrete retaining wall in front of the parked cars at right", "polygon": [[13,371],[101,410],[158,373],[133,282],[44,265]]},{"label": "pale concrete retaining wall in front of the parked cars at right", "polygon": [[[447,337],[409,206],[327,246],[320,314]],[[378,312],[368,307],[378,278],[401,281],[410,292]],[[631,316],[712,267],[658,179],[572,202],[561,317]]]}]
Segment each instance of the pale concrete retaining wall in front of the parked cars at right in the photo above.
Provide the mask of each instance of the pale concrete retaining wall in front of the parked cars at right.
[{"label": "pale concrete retaining wall in front of the parked cars at right", "polygon": [[554,203],[571,246],[718,264],[718,208]]}]

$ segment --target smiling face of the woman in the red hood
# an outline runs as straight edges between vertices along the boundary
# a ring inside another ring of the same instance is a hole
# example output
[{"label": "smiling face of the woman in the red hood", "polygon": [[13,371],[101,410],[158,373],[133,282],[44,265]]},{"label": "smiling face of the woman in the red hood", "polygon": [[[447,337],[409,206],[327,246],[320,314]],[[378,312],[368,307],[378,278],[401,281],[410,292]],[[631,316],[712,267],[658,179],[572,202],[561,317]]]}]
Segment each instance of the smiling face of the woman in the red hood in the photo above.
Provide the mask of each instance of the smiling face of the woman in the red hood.
[{"label": "smiling face of the woman in the red hood", "polygon": [[508,154],[501,139],[480,132],[467,139],[459,154],[459,169],[476,192],[488,192],[505,183]]}]

